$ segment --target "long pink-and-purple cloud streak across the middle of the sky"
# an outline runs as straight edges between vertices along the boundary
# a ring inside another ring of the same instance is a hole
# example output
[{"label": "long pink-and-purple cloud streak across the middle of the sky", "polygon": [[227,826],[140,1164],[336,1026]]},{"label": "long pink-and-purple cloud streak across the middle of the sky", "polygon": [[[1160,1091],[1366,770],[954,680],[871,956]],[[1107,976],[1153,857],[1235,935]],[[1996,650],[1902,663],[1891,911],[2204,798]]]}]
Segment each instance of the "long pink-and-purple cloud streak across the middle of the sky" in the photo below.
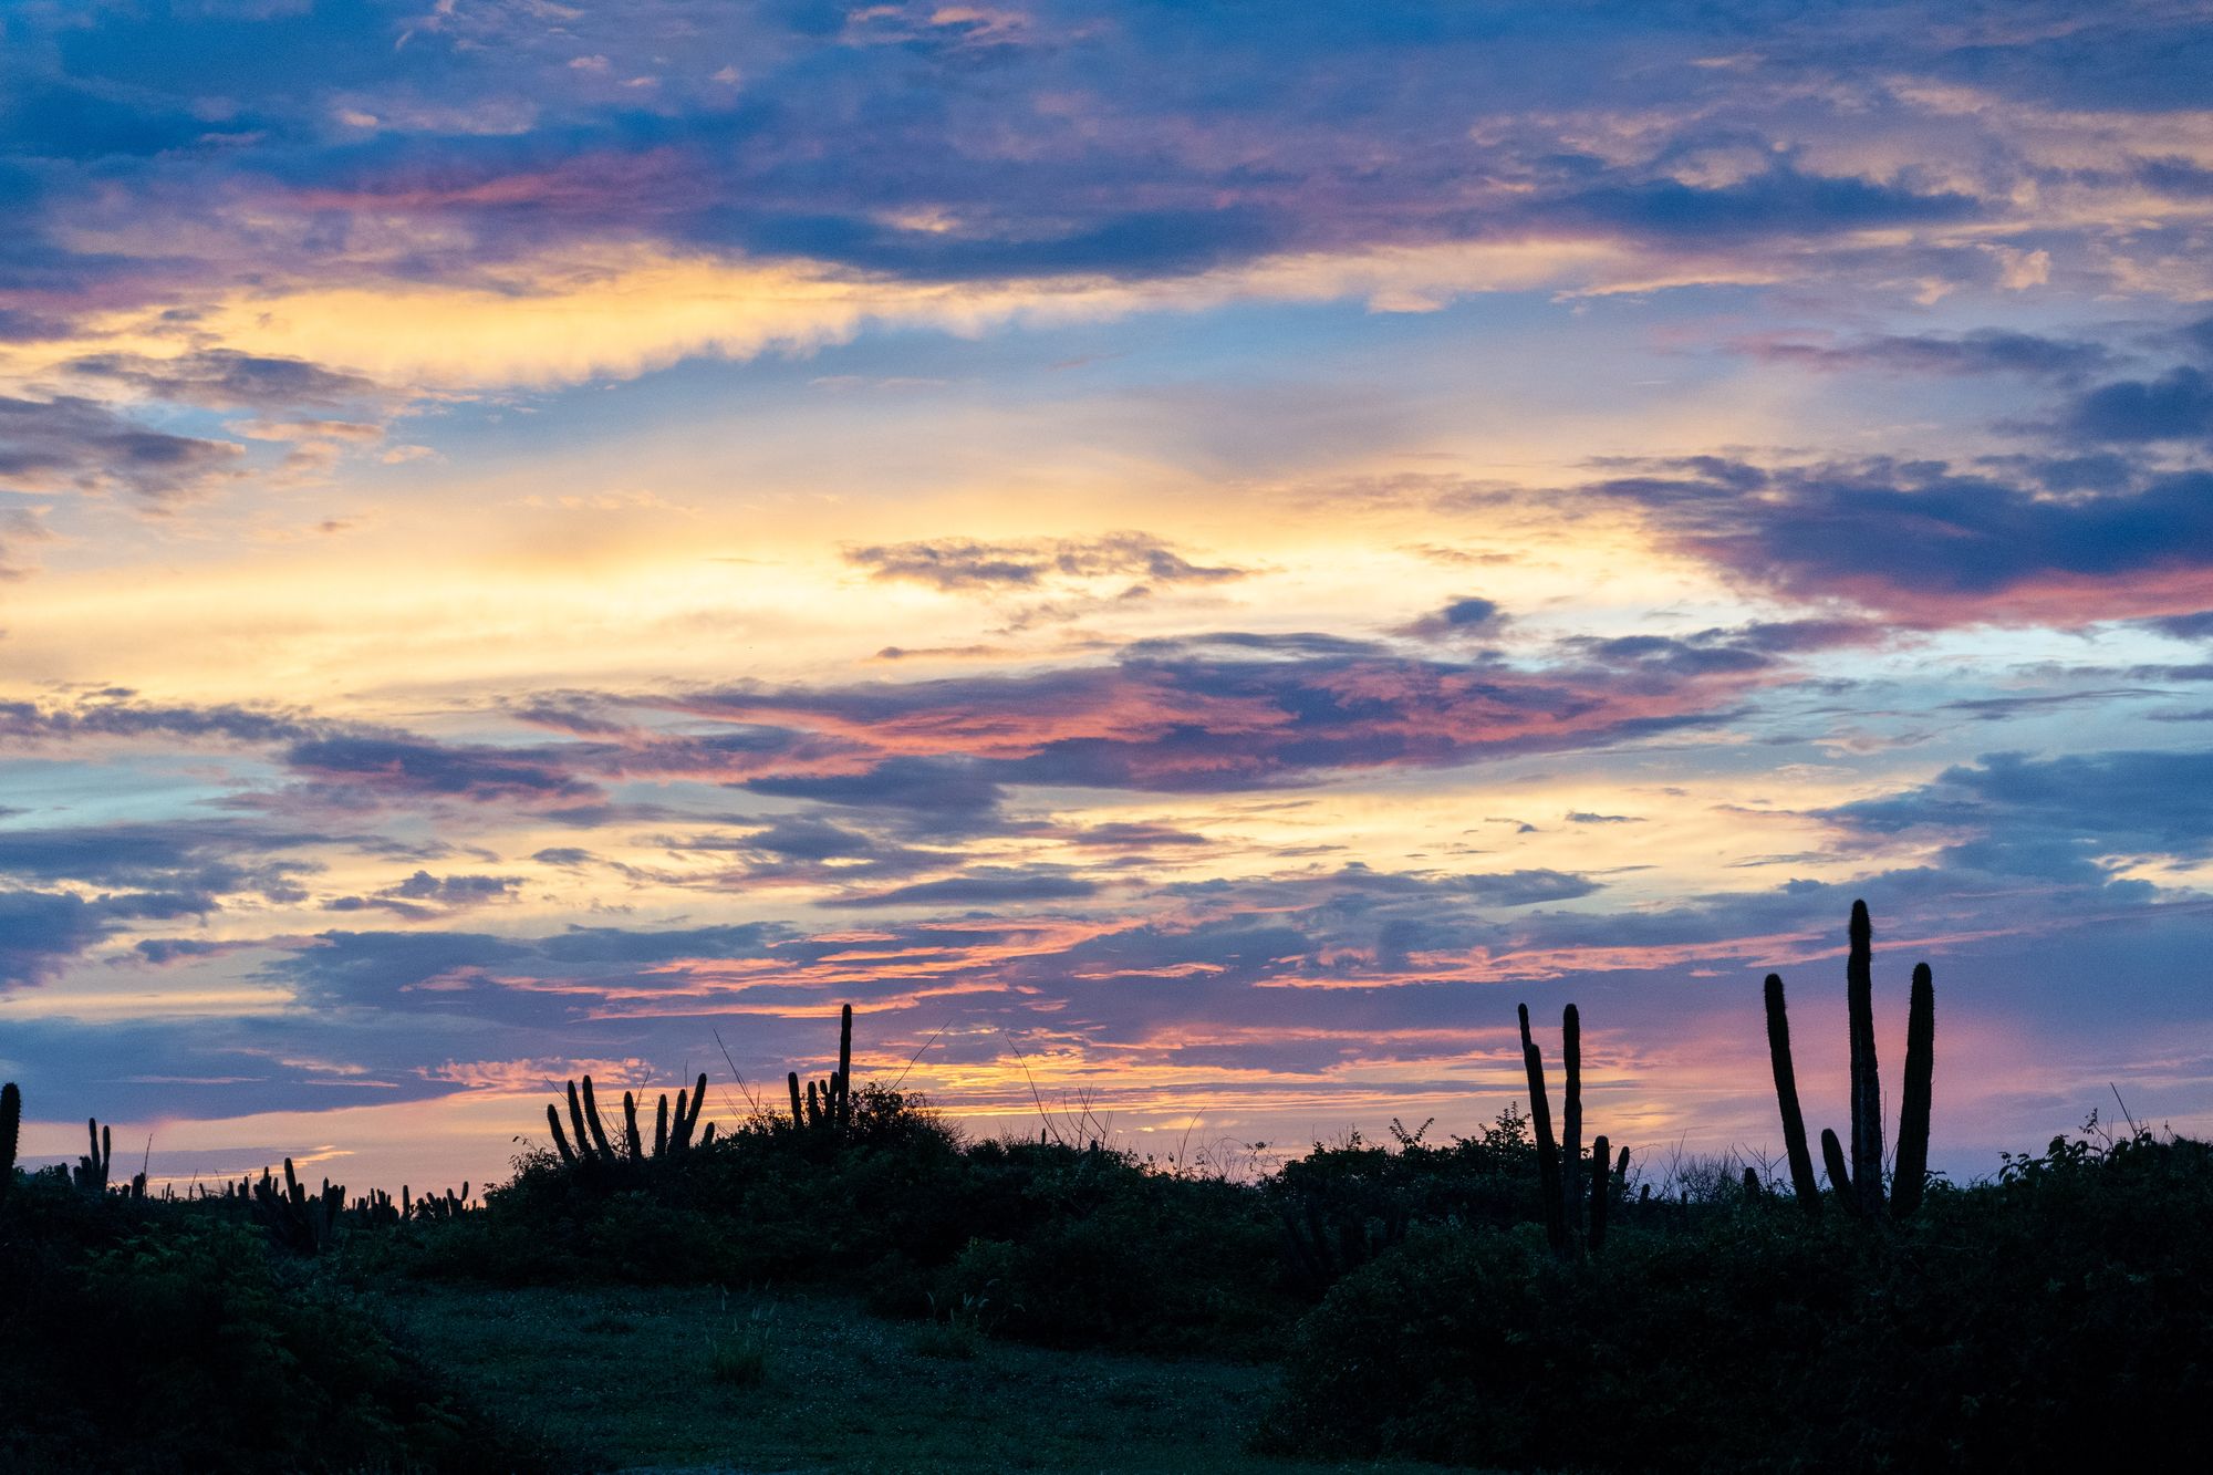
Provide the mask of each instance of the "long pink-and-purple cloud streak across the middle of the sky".
[{"label": "long pink-and-purple cloud streak across the middle of the sky", "polygon": [[987,815],[1011,784],[1206,793],[1330,771],[1596,749],[1713,722],[1777,658],[1711,631],[1582,642],[1547,669],[1416,660],[1334,636],[1219,633],[1031,675],[688,693],[695,718],[801,729],[883,757],[746,780],[763,795]]}]

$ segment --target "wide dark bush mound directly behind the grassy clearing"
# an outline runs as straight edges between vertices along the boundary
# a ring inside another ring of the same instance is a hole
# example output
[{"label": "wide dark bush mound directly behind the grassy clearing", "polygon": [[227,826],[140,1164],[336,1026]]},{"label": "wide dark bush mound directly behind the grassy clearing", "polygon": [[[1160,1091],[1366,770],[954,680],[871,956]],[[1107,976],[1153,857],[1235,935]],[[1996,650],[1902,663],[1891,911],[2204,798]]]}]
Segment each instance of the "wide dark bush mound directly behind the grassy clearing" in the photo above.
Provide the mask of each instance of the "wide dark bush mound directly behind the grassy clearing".
[{"label": "wide dark bush mound directly behind the grassy clearing", "polygon": [[863,1090],[843,1138],[763,1116],[620,1174],[529,1154],[485,1211],[356,1262],[507,1285],[837,1285],[910,1318],[989,1300],[1002,1333],[1056,1347],[1259,1351],[1297,1313],[1279,1251],[1253,1185],[1102,1145],[963,1143],[918,1098]]}]

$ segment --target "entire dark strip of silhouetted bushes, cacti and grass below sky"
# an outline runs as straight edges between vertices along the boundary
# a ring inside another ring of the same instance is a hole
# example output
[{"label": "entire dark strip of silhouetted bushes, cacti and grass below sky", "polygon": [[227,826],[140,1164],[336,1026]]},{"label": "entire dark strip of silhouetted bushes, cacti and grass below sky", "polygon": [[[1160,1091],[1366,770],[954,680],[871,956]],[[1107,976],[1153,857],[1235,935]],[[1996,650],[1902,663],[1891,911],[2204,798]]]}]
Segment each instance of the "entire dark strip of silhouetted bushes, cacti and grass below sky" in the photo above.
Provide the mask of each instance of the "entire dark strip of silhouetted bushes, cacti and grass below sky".
[{"label": "entire dark strip of silhouetted bushes, cacti and grass below sky", "polygon": [[[290,1161],[281,1180],[148,1194],[144,1174],[111,1183],[97,1123],[75,1167],[20,1174],[9,1085],[0,1338],[40,1355],[0,1360],[0,1464],[874,1468],[874,1428],[905,1440],[883,1468],[1056,1464],[1069,1440],[1091,1440],[1087,1466],[1162,1468],[1175,1459],[1131,1428],[1195,1400],[1224,1409],[1193,1444],[1211,1468],[2160,1453],[2213,1375],[2213,1145],[2091,1118],[1987,1183],[1932,1180],[1923,963],[1885,1185],[1863,906],[1846,994],[1852,1149],[1824,1132],[1824,1192],[1784,986],[1766,979],[1788,1198],[1737,1161],[1662,1165],[1653,1194],[1609,1136],[1585,1152],[1576,1005],[1558,1136],[1523,1008],[1527,1116],[1450,1143],[1392,1123],[1390,1143],[1352,1134],[1250,1176],[1051,1125],[967,1141],[896,1085],[854,1085],[850,1008],[839,1067],[806,1087],[792,1072],[788,1112],[702,1123],[699,1076],[659,1098],[648,1134],[635,1092],[611,1123],[589,1076],[569,1083],[547,1107],[551,1147],[480,1203],[469,1185],[347,1198]],[[628,1402],[567,1371],[580,1347],[633,1338],[651,1355],[617,1355],[609,1382]],[[1042,1428],[1007,1406],[996,1435],[963,1424],[1014,1386],[1062,1389],[1078,1411]],[[1237,1453],[1255,1428],[1266,1453]]]}]

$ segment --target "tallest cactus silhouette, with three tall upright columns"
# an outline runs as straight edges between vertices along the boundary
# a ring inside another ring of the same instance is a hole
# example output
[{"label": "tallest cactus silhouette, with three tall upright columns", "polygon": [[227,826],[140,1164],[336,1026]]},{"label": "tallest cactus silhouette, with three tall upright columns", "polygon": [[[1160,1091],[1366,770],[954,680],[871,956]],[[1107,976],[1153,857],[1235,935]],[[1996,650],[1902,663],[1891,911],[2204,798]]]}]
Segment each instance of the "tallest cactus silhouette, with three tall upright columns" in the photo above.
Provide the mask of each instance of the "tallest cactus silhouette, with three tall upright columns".
[{"label": "tallest cactus silhouette, with three tall upright columns", "polygon": [[[1852,901],[1850,950],[1846,955],[1846,1014],[1852,1045],[1852,1152],[1821,1130],[1821,1165],[1837,1189],[1837,1203],[1854,1218],[1881,1218],[1883,1205],[1883,1081],[1874,1065],[1874,924],[1868,904]],[[1799,1116],[1797,1072],[1790,1065],[1790,1021],[1784,1014],[1784,981],[1768,974],[1768,1054],[1775,1065],[1775,1101],[1784,1114],[1784,1145],[1790,1152],[1790,1187],[1808,1216],[1821,1211],[1821,1189],[1806,1156],[1806,1121]],[[1928,963],[1914,968],[1905,1014],[1905,1090],[1899,1101],[1899,1161],[1890,1211],[1912,1214],[1928,1185],[1930,1098],[1936,1072],[1936,983]]]}]

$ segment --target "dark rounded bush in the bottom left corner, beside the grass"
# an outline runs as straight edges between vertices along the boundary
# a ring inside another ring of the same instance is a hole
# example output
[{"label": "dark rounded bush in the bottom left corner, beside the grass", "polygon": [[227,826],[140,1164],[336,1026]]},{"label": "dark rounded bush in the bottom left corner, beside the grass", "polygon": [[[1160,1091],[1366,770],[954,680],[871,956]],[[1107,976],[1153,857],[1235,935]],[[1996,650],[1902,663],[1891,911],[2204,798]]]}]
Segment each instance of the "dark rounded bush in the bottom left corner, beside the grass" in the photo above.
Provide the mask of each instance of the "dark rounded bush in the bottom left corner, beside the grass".
[{"label": "dark rounded bush in the bottom left corner, beside the grass", "polygon": [[9,1471],[540,1468],[332,1276],[199,1203],[18,1180],[0,1347]]}]

